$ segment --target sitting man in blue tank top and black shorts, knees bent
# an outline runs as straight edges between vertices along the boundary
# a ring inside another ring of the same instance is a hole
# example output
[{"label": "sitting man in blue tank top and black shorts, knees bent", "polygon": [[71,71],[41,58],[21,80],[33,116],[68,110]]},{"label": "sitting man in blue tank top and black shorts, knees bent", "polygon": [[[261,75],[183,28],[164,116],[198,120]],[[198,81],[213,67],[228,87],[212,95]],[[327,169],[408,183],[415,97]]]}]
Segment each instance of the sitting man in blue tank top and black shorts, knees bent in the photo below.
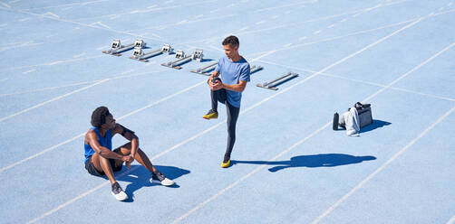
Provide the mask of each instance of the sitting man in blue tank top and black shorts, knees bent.
[{"label": "sitting man in blue tank top and black shorts, knees bent", "polygon": [[[112,136],[121,134],[130,142],[112,151]],[[125,201],[128,195],[115,181],[113,172],[120,171],[123,162],[128,169],[137,160],[151,173],[152,182],[160,182],[164,186],[174,184],[150,163],[147,155],[139,148],[138,136],[128,128],[115,123],[115,119],[107,107],[98,107],[92,113],[92,128],[84,137],[85,169],[95,176],[106,175],[111,182],[112,195],[118,201]]]}]

